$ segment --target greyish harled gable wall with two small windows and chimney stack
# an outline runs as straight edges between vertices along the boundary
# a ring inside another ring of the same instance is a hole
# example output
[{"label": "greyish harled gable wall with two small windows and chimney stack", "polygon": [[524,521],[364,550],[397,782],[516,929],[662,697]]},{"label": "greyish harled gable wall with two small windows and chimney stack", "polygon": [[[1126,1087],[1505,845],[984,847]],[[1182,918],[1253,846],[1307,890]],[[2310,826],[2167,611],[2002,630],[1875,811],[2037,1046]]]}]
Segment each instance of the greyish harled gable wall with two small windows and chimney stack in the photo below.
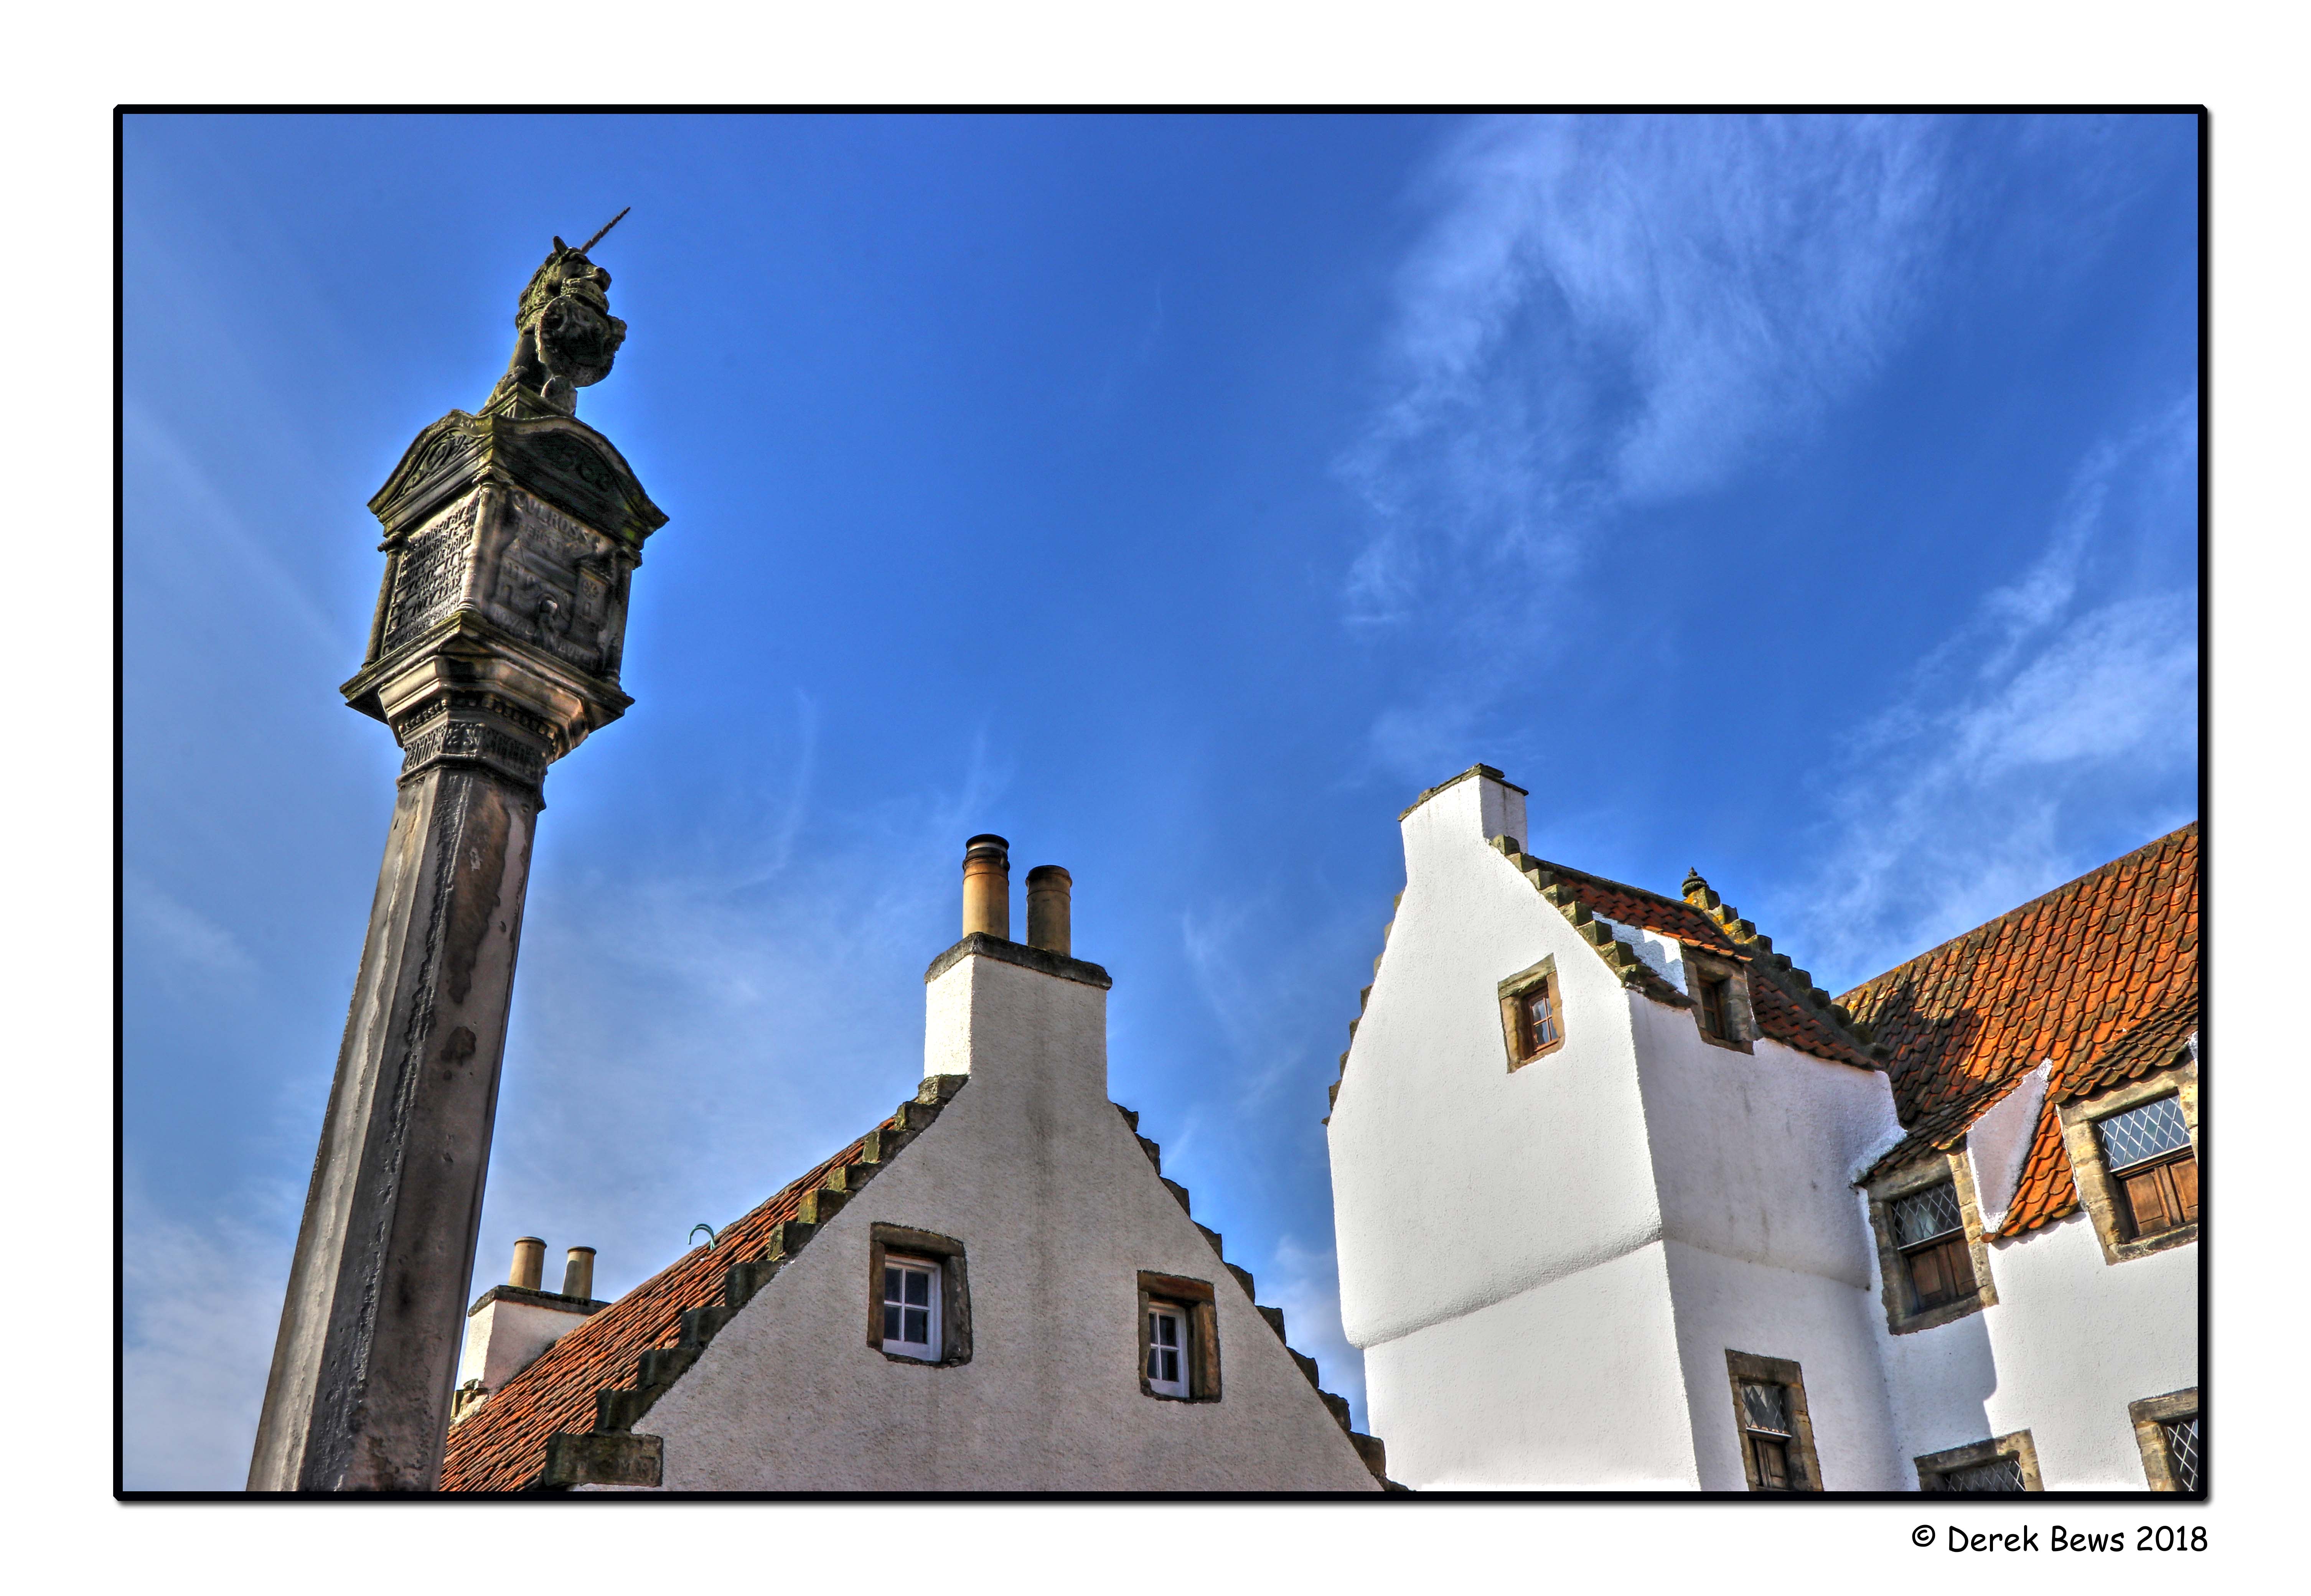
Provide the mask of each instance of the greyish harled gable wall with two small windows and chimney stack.
[{"label": "greyish harled gable wall with two small windows and chimney stack", "polygon": [[[1107,1099],[1107,993],[966,954],[927,1002],[971,1083],[649,1409],[666,1490],[1377,1490]],[[964,1243],[968,1363],[867,1344],[878,1220]],[[1139,1390],[1139,1270],[1213,1284],[1218,1402]]]}]

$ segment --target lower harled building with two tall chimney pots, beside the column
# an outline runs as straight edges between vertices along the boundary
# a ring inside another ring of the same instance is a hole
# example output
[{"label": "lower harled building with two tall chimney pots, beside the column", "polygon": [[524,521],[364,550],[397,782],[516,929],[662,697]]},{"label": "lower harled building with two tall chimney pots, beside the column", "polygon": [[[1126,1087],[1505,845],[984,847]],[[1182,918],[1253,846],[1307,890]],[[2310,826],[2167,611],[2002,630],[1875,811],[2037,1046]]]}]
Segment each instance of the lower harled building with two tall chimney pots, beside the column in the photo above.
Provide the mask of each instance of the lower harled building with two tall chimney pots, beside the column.
[{"label": "lower harled building with two tall chimney pots, beside the column", "polygon": [[[924,1074],[864,1136],[615,1303],[592,1263],[474,1305],[455,1492],[1377,1492],[1382,1448],[1285,1344],[1107,1097],[1109,975],[1070,880],[975,836],[924,975]],[[573,1261],[575,1268],[575,1261]]]}]

